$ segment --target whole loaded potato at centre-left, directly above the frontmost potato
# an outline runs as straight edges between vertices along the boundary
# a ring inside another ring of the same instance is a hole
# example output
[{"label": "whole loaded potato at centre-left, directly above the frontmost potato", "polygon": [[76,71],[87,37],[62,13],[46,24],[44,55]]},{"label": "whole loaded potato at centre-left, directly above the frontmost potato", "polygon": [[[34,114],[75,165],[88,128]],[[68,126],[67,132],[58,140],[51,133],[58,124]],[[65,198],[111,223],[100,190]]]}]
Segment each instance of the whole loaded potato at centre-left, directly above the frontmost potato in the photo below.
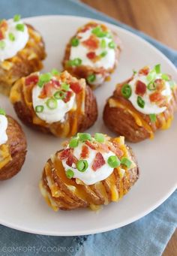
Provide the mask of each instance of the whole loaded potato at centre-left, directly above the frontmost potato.
[{"label": "whole loaded potato at centre-left, directly above the frontmost potato", "polygon": [[67,71],[23,77],[12,87],[10,101],[26,125],[56,137],[84,131],[98,116],[96,98],[86,80],[77,80]]}]

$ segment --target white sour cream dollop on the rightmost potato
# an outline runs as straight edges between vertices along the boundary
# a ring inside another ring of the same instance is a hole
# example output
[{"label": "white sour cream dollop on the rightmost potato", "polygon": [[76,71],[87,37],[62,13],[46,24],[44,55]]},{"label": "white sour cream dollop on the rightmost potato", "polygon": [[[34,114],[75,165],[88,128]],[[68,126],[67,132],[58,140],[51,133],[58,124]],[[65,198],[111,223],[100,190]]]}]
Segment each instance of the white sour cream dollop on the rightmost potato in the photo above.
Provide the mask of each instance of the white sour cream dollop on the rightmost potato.
[{"label": "white sour cream dollop on the rightmost potato", "polygon": [[[161,75],[157,75],[156,79],[161,78]],[[147,80],[147,76],[143,76],[143,75],[139,75],[136,74],[133,77],[133,80],[131,80],[128,84],[131,86],[132,89],[132,94],[129,98],[129,101],[133,104],[133,107],[136,108],[136,110],[138,110],[139,112],[149,115],[149,114],[159,114],[159,113],[163,113],[163,111],[166,110],[166,107],[158,107],[157,104],[153,103],[150,101],[149,99],[149,95],[151,95],[151,93],[153,93],[153,91],[150,91],[148,89],[146,89],[145,95],[141,96],[143,101],[145,101],[145,107],[139,107],[139,105],[137,104],[137,97],[138,95],[136,95],[136,82],[137,81],[141,81],[142,83],[145,83],[145,85],[148,85],[148,80]],[[172,98],[172,91],[170,89],[170,85],[167,81],[165,81],[165,86],[166,89],[163,90],[162,95],[163,96],[167,96],[168,97],[168,101],[170,101],[170,99]]]}]

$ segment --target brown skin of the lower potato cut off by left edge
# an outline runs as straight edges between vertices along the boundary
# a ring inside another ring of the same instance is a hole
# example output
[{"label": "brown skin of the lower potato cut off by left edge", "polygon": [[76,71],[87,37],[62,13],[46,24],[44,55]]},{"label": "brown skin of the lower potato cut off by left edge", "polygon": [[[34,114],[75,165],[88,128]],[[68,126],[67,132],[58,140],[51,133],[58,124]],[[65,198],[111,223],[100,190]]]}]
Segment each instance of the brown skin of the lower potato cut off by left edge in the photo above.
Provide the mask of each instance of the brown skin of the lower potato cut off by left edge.
[{"label": "brown skin of the lower potato cut off by left edge", "polygon": [[27,152],[26,136],[21,126],[10,116],[7,116],[7,120],[7,145],[12,160],[1,168],[0,180],[10,179],[21,170]]}]

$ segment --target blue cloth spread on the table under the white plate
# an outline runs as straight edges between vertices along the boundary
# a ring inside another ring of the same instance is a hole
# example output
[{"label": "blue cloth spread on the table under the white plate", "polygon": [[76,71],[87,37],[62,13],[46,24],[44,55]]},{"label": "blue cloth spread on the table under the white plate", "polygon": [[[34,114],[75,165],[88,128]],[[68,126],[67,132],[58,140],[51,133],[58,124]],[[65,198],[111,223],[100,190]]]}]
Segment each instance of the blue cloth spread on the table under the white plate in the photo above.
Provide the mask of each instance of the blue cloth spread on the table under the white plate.
[{"label": "blue cloth spread on the table under the white plate", "polygon": [[[104,20],[121,26],[162,51],[175,65],[177,52],[160,42],[118,23],[110,17],[74,0],[1,0],[0,18],[14,14],[31,17],[46,14],[71,14]],[[119,229],[90,236],[40,236],[0,226],[1,255],[142,255],[156,256],[163,252],[177,226],[177,191],[150,214]]]}]

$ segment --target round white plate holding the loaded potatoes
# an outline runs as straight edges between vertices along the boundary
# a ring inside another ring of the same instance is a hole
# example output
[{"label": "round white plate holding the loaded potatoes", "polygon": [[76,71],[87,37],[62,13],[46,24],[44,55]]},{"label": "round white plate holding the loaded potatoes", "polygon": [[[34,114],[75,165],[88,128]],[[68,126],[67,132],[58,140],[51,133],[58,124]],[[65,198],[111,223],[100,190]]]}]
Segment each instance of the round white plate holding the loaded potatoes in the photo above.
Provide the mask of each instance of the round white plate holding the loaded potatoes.
[{"label": "round white plate holding the loaded potatoes", "polygon": [[[43,71],[62,69],[65,45],[77,28],[89,22],[83,17],[47,16],[26,19],[43,35],[47,58]],[[102,120],[106,98],[112,94],[115,84],[130,77],[132,69],[161,63],[163,72],[177,80],[175,67],[146,41],[107,24],[118,32],[124,44],[120,63],[109,83],[95,91],[98,99],[99,119],[89,132],[112,134]],[[0,96],[1,107],[17,119],[7,98]],[[175,116],[177,117],[177,116]],[[61,149],[62,140],[40,134],[23,125],[28,140],[28,154],[23,170],[13,179],[0,183],[0,223],[30,233],[57,236],[74,236],[98,233],[122,227],[148,214],[163,203],[176,188],[175,168],[177,144],[177,118],[167,131],[159,131],[154,140],[133,144],[133,150],[141,170],[139,181],[119,203],[110,203],[98,213],[89,209],[53,212],[46,205],[38,189],[38,182],[47,158]]]}]

